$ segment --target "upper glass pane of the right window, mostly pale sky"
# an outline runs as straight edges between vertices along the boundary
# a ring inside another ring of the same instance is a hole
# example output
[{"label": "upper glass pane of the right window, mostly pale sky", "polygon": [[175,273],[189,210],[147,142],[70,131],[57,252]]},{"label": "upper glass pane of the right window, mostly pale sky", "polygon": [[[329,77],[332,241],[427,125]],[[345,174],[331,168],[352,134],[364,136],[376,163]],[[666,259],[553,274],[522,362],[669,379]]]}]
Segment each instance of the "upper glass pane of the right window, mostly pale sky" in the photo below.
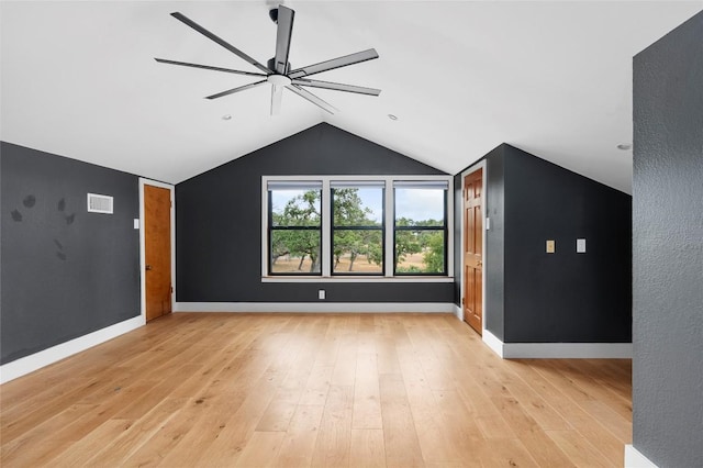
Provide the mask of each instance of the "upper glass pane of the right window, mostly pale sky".
[{"label": "upper glass pane of the right window, mostly pale sky", "polygon": [[397,226],[444,226],[444,189],[395,188]]}]

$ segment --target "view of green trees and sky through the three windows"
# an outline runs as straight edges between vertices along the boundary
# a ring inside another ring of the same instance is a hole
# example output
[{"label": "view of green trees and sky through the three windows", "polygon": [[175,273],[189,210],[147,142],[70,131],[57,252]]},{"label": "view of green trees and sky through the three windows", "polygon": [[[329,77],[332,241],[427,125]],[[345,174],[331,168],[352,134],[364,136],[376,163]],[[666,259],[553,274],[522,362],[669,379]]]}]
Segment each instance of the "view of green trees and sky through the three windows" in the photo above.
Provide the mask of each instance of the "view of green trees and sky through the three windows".
[{"label": "view of green trees and sky through the three windows", "polygon": [[[384,274],[383,183],[333,181],[331,188],[330,234],[322,233],[321,189],[269,189],[271,274],[320,275],[322,248],[330,248],[333,275]],[[445,193],[394,188],[393,274],[447,272]]]}]

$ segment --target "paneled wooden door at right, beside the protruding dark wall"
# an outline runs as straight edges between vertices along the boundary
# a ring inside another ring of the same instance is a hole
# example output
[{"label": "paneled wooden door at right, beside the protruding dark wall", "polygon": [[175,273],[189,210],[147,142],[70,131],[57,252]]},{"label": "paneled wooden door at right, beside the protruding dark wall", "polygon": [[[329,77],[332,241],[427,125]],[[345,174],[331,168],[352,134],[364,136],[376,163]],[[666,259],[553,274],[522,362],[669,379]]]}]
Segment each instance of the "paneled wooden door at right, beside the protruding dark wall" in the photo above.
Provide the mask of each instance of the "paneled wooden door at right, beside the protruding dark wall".
[{"label": "paneled wooden door at right, beside the protruding dark wall", "polygon": [[464,320],[483,331],[483,169],[464,178]]}]

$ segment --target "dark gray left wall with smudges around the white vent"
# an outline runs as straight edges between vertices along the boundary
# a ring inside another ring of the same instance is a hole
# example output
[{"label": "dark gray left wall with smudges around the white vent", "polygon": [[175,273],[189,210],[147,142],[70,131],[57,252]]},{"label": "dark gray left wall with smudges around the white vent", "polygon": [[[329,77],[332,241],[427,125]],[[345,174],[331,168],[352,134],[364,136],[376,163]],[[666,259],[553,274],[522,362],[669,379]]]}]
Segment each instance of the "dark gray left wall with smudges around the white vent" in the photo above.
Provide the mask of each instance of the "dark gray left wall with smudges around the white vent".
[{"label": "dark gray left wall with smudges around the white vent", "polygon": [[0,168],[1,363],[138,315],[137,177],[9,143]]}]

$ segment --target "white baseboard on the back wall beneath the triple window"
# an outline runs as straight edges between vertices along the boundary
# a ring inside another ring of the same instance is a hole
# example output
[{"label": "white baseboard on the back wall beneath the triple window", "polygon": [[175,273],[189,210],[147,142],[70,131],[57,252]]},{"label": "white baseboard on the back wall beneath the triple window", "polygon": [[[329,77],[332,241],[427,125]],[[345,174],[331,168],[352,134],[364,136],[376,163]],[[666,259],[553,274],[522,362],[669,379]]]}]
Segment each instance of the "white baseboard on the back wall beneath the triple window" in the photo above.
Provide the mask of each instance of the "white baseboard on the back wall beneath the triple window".
[{"label": "white baseboard on the back wall beneath the triple window", "polygon": [[451,302],[176,302],[174,312],[455,313]]}]

